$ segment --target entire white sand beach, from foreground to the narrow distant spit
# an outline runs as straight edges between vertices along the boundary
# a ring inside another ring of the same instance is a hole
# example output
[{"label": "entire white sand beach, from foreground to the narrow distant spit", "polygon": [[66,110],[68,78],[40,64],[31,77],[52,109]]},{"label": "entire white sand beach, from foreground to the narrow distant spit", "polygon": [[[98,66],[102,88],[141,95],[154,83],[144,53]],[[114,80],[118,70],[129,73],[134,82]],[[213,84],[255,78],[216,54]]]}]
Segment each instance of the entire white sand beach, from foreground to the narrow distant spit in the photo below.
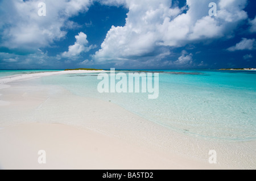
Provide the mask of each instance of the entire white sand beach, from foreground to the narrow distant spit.
[{"label": "entire white sand beach, from foreground to the narrow distant spit", "polygon": [[[255,169],[255,141],[192,137],[117,104],[33,80],[59,71],[0,79],[1,169]],[[46,151],[39,164],[38,151]],[[209,163],[209,150],[217,163]]]}]

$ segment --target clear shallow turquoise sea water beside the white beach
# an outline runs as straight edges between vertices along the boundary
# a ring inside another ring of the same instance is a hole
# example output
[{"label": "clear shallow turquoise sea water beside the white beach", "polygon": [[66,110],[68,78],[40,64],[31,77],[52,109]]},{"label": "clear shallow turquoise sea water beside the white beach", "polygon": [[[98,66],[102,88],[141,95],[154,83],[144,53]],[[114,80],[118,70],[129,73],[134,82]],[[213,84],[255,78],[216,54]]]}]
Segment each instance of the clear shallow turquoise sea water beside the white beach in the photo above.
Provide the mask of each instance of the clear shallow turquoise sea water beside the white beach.
[{"label": "clear shallow turquoise sea water beside the white beach", "polygon": [[[176,132],[216,141],[256,140],[256,71],[150,71],[160,72],[158,99],[148,99],[148,93],[100,94],[97,74],[55,75],[36,81],[111,101]],[[0,77],[4,74],[0,71]]]}]

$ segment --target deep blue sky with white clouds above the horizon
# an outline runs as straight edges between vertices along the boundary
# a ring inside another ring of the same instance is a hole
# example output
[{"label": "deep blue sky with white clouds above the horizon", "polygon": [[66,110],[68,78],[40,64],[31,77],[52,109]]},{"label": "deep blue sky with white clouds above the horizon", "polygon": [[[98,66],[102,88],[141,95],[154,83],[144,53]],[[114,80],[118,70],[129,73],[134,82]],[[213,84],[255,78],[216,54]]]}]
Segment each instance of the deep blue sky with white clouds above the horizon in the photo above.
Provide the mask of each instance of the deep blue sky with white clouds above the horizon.
[{"label": "deep blue sky with white clouds above the horizon", "polygon": [[256,68],[255,7],[255,0],[0,0],[0,69]]}]

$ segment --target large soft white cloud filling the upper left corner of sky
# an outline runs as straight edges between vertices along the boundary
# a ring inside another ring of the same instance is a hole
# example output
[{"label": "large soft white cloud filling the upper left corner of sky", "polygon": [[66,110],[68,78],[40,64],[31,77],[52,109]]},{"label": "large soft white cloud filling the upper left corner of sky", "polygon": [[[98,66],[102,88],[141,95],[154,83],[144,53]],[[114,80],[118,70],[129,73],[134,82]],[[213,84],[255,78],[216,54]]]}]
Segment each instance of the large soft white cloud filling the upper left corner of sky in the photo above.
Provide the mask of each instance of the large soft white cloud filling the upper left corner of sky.
[{"label": "large soft white cloud filling the upper left corner of sky", "polygon": [[79,12],[87,11],[90,0],[44,0],[46,16],[38,15],[39,1],[3,0],[0,2],[1,45],[10,49],[49,47],[66,35],[64,28],[71,27],[68,20]]}]

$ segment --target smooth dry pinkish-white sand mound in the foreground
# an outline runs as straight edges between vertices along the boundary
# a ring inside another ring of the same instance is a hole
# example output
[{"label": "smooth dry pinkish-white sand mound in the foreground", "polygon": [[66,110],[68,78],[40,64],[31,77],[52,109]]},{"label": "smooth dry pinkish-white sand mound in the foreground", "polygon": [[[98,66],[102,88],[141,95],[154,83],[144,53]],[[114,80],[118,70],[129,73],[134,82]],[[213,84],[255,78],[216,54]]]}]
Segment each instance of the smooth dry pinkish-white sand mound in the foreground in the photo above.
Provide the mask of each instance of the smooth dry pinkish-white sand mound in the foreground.
[{"label": "smooth dry pinkish-white sand mound in the foreground", "polygon": [[[62,124],[20,124],[2,129],[0,135],[2,169],[217,168]],[[38,163],[42,149],[46,164]]]}]

